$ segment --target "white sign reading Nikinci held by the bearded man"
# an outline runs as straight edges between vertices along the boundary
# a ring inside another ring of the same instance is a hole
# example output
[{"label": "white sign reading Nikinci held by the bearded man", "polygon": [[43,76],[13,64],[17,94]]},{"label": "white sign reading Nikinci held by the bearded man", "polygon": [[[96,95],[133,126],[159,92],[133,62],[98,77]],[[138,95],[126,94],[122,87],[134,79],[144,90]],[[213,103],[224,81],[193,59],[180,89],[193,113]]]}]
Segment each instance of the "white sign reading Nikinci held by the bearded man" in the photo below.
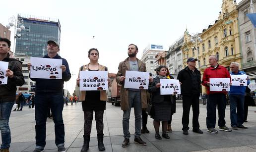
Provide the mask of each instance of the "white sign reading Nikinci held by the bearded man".
[{"label": "white sign reading Nikinci held by the bearded man", "polygon": [[149,72],[126,71],[125,88],[147,89]]}]

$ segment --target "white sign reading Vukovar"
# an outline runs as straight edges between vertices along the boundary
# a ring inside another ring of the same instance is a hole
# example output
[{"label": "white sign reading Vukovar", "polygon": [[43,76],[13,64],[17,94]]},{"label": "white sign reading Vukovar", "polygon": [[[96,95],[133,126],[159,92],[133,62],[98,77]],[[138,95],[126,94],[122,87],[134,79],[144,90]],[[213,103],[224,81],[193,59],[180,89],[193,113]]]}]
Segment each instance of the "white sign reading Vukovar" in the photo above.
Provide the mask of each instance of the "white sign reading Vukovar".
[{"label": "white sign reading Vukovar", "polygon": [[181,85],[179,80],[175,79],[160,79],[161,95],[176,95],[181,94]]}]

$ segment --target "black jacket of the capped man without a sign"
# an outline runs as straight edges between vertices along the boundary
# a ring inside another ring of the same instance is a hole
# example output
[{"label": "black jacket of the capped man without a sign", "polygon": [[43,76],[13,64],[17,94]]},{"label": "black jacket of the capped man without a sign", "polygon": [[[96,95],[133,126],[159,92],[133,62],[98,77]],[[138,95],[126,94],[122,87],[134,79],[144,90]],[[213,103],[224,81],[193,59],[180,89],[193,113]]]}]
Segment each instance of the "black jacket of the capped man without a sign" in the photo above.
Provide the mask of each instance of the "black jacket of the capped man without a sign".
[{"label": "black jacket of the capped man without a sign", "polygon": [[[181,70],[178,74],[177,79],[182,83],[181,84],[181,93],[184,96],[192,95],[192,73],[189,71],[189,67],[187,66],[183,70]],[[194,70],[198,83],[198,95],[201,90],[201,73],[196,68]]]}]

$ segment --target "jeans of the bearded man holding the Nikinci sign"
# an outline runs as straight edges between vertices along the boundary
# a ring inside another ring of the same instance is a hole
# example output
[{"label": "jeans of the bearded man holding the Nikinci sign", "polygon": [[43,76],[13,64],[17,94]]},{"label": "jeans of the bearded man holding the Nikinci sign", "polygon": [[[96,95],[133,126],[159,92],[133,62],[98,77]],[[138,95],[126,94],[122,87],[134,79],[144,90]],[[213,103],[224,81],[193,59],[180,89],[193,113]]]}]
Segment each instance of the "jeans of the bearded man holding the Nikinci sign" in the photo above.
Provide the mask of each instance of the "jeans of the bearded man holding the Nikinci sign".
[{"label": "jeans of the bearded man holding the Nikinci sign", "polygon": [[134,115],[135,115],[135,134],[134,137],[138,138],[141,135],[141,97],[140,91],[129,91],[128,93],[128,102],[129,108],[128,110],[124,110],[123,114],[123,132],[124,137],[129,139],[130,132],[129,132],[129,119],[130,119],[130,109],[131,107],[134,108]]}]

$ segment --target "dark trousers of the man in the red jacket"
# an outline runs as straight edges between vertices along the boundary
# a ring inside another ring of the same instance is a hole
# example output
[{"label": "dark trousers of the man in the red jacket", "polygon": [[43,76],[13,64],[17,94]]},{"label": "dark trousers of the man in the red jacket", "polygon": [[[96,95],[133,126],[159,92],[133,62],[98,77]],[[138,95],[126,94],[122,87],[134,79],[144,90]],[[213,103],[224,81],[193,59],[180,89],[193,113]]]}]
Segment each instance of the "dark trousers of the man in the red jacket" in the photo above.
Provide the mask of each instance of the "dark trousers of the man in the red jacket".
[{"label": "dark trousers of the man in the red jacket", "polygon": [[207,128],[215,128],[216,124],[216,107],[218,105],[218,126],[223,127],[226,124],[225,121],[225,110],[226,110],[226,95],[222,93],[210,94],[207,97],[207,117],[206,117],[206,126]]}]

